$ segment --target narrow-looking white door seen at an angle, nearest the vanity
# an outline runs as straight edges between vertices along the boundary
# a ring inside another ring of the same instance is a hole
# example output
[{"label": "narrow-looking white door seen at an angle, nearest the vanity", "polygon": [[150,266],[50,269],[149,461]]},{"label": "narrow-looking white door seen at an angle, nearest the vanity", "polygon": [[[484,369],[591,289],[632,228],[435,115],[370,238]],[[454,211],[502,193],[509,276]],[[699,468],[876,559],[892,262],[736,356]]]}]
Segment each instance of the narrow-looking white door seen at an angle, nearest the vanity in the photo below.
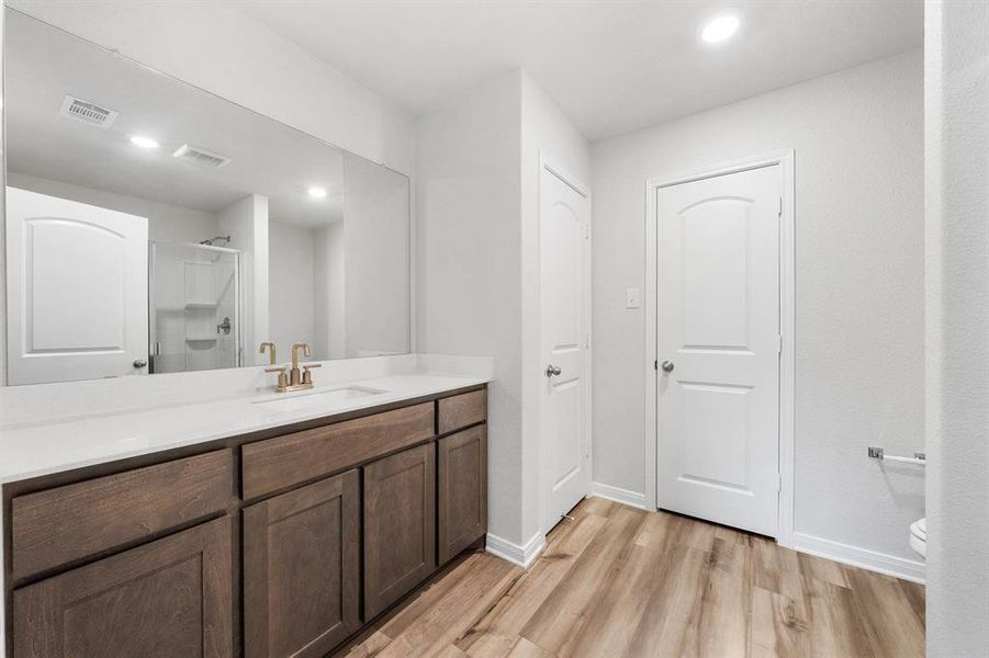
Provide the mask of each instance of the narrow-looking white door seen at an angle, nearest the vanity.
[{"label": "narrow-looking white door seen at an angle, nearest the vanity", "polygon": [[539,179],[543,530],[591,492],[587,194],[542,167]]}]

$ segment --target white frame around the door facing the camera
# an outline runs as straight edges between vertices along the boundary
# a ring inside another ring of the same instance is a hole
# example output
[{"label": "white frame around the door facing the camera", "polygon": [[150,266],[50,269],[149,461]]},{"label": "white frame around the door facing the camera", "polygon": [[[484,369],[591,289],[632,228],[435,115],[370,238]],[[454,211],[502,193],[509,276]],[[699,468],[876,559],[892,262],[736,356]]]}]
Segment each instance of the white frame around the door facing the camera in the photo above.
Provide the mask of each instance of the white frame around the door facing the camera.
[{"label": "white frame around the door facing the camera", "polygon": [[[778,164],[783,174],[783,215],[779,219],[779,492],[777,495],[776,542],[793,546],[794,538],[794,375],[795,375],[795,309],[796,309],[796,222],[794,195],[794,149],[784,149],[701,167],[689,171],[651,177],[645,181],[645,504],[658,509],[656,478],[659,468],[659,359],[656,333],[656,191],[681,183],[739,173]],[[649,362],[652,363],[649,363]],[[652,366],[652,367],[650,367]]]}]

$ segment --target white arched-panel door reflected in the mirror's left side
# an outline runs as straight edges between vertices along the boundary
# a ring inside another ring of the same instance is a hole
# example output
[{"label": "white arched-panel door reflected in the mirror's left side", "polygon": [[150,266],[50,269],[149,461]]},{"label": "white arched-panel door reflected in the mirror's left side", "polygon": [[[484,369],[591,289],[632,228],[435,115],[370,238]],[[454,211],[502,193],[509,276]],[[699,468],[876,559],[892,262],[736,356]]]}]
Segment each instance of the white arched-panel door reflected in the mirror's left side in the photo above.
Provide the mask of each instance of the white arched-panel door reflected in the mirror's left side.
[{"label": "white arched-panel door reflected in the mirror's left side", "polygon": [[148,223],[7,189],[8,381],[147,374]]}]

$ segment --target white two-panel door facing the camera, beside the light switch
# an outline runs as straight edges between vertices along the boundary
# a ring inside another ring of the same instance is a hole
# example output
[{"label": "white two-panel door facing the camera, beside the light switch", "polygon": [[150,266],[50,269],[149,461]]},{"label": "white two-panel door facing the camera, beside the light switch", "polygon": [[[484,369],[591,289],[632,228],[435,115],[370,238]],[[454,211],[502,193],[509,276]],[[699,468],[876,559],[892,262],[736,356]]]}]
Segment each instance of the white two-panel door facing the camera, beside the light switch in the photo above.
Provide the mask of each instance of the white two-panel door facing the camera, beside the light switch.
[{"label": "white two-panel door facing the camera, beside the light switch", "polygon": [[656,191],[662,509],[775,535],[779,166]]}]

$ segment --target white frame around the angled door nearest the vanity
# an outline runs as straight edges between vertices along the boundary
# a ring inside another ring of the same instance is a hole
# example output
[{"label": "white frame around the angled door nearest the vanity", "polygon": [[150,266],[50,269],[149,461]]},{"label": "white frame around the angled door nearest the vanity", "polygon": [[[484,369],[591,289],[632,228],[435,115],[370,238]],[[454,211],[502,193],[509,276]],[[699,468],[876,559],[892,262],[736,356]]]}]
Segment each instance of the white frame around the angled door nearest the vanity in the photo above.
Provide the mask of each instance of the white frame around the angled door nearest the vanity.
[{"label": "white frame around the angled door nearest the vanity", "polygon": [[[593,207],[591,200],[591,189],[585,185],[581,179],[570,173],[555,158],[548,155],[544,150],[539,151],[539,178],[537,180],[537,201],[536,201],[536,217],[538,220],[537,231],[538,231],[538,263],[537,268],[539,272],[539,361],[537,362],[539,367],[543,367],[543,324],[542,324],[542,173],[547,172],[550,175],[557,177],[560,181],[562,181],[565,185],[570,186],[574,192],[583,196],[587,200],[587,227],[586,227],[586,238],[584,240],[584,250],[582,254],[582,271],[584,273],[584,285],[583,285],[583,300],[584,300],[584,313],[581,318],[583,325],[583,333],[584,333],[584,418],[583,418],[583,435],[581,436],[581,443],[584,446],[585,458],[588,472],[588,487],[587,495],[591,495],[591,489],[594,486],[594,451],[591,445],[592,433],[592,409],[591,409],[591,389],[592,389],[592,352],[591,347],[593,344],[591,340],[591,303],[592,303],[592,279],[591,279],[591,250],[592,243],[594,240],[594,231],[592,230],[593,226]],[[537,376],[533,373],[533,376]],[[547,441],[542,440],[544,436],[544,428],[546,428],[546,416],[549,413],[549,409],[543,405],[544,393],[542,387],[546,385],[544,379],[546,375],[543,373],[538,373],[539,376],[539,532],[546,534],[551,530],[551,527],[544,527],[547,522],[547,510],[549,509],[549,498],[550,491],[546,487],[548,483],[544,480],[546,466],[548,462],[547,455]]]}]

